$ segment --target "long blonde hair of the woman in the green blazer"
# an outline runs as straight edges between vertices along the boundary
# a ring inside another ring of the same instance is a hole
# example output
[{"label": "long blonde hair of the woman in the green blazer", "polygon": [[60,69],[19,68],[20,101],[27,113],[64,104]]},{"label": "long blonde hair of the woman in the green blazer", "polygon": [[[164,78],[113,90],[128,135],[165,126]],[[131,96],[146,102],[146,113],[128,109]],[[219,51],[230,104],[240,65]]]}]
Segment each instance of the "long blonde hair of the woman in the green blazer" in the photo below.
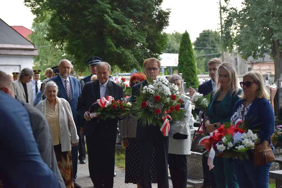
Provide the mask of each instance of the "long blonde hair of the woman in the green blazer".
[{"label": "long blonde hair of the woman in the green blazer", "polygon": [[218,76],[219,69],[224,69],[229,75],[230,78],[230,82],[228,83],[229,93],[237,94],[239,92],[239,83],[238,83],[238,76],[235,66],[232,63],[224,62],[220,64],[217,69],[216,89],[214,95],[221,92],[221,84],[219,83],[219,76]]}]

